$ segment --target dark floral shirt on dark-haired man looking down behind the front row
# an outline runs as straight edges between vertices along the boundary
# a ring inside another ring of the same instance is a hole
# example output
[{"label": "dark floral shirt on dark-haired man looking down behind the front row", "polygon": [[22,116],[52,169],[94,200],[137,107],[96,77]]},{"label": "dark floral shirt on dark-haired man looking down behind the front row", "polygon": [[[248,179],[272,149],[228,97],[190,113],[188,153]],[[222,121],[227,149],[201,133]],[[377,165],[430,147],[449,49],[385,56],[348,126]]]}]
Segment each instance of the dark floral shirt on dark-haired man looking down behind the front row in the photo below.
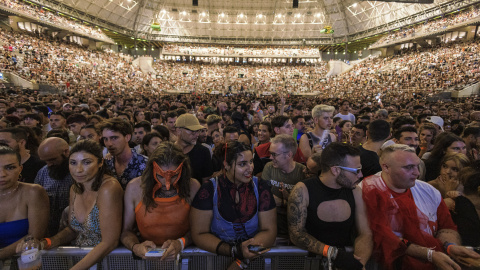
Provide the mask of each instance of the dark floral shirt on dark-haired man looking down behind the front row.
[{"label": "dark floral shirt on dark-haired man looking down behind the front row", "polygon": [[123,189],[127,187],[128,182],[135,177],[142,175],[143,171],[147,168],[148,158],[144,155],[139,155],[135,149],[131,149],[132,158],[128,162],[127,168],[123,171],[122,175],[118,175],[115,169],[115,157],[112,157],[110,160],[105,160],[105,164],[108,166],[108,169],[113,174],[118,182],[122,185]]}]

